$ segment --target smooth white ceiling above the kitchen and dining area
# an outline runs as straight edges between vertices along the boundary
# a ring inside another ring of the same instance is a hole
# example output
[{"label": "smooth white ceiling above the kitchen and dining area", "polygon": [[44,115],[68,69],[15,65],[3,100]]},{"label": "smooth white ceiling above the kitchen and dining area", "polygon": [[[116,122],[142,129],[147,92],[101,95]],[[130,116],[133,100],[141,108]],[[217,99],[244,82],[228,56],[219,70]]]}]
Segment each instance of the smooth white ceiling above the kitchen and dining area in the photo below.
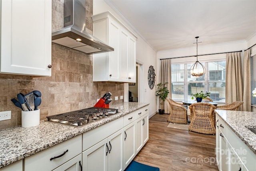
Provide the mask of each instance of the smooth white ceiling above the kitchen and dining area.
[{"label": "smooth white ceiling above the kitchen and dining area", "polygon": [[106,0],[155,51],[248,40],[256,0]]}]

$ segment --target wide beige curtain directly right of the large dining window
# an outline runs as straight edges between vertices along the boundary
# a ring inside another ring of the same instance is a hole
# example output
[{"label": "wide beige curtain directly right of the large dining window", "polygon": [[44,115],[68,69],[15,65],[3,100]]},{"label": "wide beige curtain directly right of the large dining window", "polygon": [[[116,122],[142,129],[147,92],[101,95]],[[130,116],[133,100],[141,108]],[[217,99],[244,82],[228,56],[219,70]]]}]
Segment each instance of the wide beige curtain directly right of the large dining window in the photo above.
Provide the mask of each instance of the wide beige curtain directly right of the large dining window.
[{"label": "wide beige curtain directly right of the large dining window", "polygon": [[[243,101],[242,63],[240,52],[226,54],[226,104]],[[238,110],[243,110],[240,106]]]}]

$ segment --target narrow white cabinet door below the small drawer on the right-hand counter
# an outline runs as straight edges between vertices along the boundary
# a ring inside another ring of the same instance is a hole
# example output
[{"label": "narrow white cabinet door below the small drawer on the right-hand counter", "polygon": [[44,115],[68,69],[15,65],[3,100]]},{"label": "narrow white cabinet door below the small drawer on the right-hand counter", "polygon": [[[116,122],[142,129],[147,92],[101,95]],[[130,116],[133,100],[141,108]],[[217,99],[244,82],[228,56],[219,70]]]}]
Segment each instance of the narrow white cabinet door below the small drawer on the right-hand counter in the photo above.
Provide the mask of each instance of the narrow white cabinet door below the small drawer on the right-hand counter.
[{"label": "narrow white cabinet door below the small drawer on the right-hand counter", "polygon": [[220,138],[220,171],[228,171],[228,150],[227,139],[224,134],[219,131]]}]

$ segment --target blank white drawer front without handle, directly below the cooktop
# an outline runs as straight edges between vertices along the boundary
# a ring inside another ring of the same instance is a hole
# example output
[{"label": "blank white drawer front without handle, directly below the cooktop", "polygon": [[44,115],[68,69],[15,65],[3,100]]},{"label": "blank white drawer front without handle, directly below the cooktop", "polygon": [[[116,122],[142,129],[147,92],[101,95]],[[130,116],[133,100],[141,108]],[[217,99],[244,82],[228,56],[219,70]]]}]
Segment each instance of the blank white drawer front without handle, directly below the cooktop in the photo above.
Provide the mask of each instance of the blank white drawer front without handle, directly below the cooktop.
[{"label": "blank white drawer front without handle, directly below the cooktop", "polygon": [[108,122],[83,134],[83,151],[123,128],[123,117]]}]

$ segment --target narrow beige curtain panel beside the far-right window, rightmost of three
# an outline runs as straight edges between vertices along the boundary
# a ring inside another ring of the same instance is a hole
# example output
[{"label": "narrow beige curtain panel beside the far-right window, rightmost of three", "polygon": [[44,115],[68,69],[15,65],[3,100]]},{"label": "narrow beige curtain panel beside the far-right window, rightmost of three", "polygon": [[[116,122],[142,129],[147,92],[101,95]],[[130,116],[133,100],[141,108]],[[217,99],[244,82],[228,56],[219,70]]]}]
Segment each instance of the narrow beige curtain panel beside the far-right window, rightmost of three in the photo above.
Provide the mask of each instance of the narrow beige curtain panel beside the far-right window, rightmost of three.
[{"label": "narrow beige curtain panel beside the far-right window, rightmost of three", "polygon": [[250,72],[250,49],[244,51],[244,94],[243,110],[251,112],[251,72]]}]

